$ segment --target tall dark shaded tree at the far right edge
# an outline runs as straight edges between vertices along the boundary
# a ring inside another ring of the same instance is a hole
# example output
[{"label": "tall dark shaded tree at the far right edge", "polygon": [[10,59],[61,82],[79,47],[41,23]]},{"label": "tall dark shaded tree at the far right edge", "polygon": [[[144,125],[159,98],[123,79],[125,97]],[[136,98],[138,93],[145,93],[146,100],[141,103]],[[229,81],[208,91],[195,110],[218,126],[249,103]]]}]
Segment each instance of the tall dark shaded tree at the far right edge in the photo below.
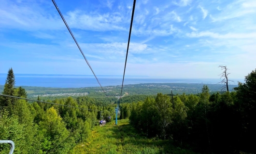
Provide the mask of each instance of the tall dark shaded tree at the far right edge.
[{"label": "tall dark shaded tree at the far right edge", "polygon": [[256,69],[248,74],[245,83],[239,83],[236,90],[236,107],[240,111],[239,121],[241,121],[242,149],[254,151],[254,143],[250,142],[256,138]]}]

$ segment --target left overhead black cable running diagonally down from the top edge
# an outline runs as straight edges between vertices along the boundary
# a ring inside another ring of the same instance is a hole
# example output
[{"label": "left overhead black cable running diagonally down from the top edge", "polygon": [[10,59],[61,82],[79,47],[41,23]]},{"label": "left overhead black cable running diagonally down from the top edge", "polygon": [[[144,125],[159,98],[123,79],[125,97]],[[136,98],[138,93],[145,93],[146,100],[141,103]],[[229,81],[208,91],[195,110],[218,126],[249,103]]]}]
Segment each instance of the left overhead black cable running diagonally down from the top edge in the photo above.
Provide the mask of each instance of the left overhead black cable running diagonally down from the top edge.
[{"label": "left overhead black cable running diagonally down from the top edge", "polygon": [[[81,53],[82,53],[82,55],[84,56],[85,61],[86,61],[86,63],[88,64],[88,66],[90,67],[90,69],[91,69],[91,71],[92,71],[92,73],[93,73],[94,77],[97,79],[97,81],[98,81],[98,83],[99,83],[99,85],[100,85],[101,89],[103,90],[103,88],[102,88],[102,86],[101,86],[101,84],[100,84],[99,79],[96,77],[96,75],[95,75],[94,71],[92,70],[92,67],[91,67],[91,65],[89,64],[89,62],[87,61],[87,59],[86,59],[86,57],[85,57],[84,52],[83,52],[83,51],[82,51],[82,49],[80,48],[80,46],[79,46],[78,42],[76,41],[76,39],[75,39],[75,37],[74,37],[73,33],[71,32],[70,27],[68,26],[68,24],[67,24],[66,20],[64,19],[64,17],[63,17],[63,15],[61,14],[60,10],[58,9],[56,2],[55,2],[54,0],[52,0],[52,2],[53,2],[53,4],[55,5],[55,7],[56,7],[56,9],[57,9],[57,11],[58,11],[58,13],[59,13],[60,17],[62,18],[62,20],[63,20],[64,24],[67,26],[67,28],[68,28],[68,30],[69,30],[69,32],[70,32],[70,34],[71,34],[72,38],[74,39],[74,41],[75,41],[75,43],[76,43],[76,45],[77,45],[78,49],[80,50],[80,52],[81,52]],[[104,93],[105,93],[105,95],[106,95],[105,90],[103,90],[103,92],[104,92]]]}]

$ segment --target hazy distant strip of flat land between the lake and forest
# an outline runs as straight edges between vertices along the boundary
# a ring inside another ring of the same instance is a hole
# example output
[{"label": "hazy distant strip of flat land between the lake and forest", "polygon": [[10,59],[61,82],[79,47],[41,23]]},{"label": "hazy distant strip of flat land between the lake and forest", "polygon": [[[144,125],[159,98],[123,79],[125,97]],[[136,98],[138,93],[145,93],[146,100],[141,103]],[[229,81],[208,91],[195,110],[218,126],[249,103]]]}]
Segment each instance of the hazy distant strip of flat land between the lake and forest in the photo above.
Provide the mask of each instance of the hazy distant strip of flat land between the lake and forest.
[{"label": "hazy distant strip of flat land between the lake and forest", "polygon": [[[169,94],[172,90],[173,94],[197,94],[200,93],[204,84],[197,83],[141,83],[129,84],[124,86],[124,93],[128,95],[156,95],[157,93]],[[208,84],[210,92],[220,91],[223,85]],[[19,87],[19,86],[15,86]],[[22,86],[28,93],[28,97],[66,97],[66,96],[105,96],[100,87],[79,87],[79,88],[51,88],[51,87],[32,87]],[[238,85],[229,85],[230,91]],[[0,92],[4,86],[0,85]],[[116,97],[120,95],[121,85],[105,86],[107,96]]]}]

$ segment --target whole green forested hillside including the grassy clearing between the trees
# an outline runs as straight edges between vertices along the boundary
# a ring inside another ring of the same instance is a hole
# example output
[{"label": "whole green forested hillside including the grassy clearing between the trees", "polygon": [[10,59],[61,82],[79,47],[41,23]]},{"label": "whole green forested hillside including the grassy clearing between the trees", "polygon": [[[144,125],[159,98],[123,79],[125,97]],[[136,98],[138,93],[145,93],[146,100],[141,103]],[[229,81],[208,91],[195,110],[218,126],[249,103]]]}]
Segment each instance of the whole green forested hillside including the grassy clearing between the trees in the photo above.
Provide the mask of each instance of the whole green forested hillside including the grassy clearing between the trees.
[{"label": "whole green forested hillside including the grassy clearing between the trees", "polygon": [[[233,90],[200,86],[173,95],[132,87],[120,100],[115,125],[117,98],[38,93],[35,100],[49,103],[18,99],[28,98],[28,91],[15,87],[11,68],[2,94],[15,97],[0,96],[0,140],[14,141],[14,154],[256,153],[256,70]],[[101,119],[106,126],[99,126]],[[0,144],[0,154],[9,150]]]}]

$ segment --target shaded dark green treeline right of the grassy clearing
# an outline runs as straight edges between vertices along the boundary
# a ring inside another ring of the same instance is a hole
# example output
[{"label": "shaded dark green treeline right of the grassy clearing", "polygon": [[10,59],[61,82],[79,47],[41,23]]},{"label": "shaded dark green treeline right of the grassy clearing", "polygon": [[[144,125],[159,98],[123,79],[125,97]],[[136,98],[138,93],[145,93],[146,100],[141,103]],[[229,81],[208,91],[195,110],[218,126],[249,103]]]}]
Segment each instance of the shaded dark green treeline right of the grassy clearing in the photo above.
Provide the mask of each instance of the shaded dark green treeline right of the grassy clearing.
[{"label": "shaded dark green treeline right of the grassy clearing", "polygon": [[235,91],[195,95],[158,93],[120,105],[121,118],[148,137],[175,141],[202,153],[255,153],[256,70]]}]

